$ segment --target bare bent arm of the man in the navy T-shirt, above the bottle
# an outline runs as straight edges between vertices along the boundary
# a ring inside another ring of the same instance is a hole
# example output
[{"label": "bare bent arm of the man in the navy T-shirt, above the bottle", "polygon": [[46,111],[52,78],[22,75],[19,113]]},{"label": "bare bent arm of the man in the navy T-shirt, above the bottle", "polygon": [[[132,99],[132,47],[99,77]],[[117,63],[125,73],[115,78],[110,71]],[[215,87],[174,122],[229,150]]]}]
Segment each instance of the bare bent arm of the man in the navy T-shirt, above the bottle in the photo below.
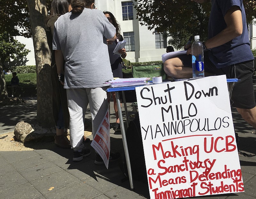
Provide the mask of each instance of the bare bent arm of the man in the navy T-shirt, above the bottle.
[{"label": "bare bent arm of the man in the navy T-shirt, above the bottle", "polygon": [[224,16],[224,20],[227,27],[216,36],[204,42],[207,49],[223,45],[243,33],[242,13],[238,6],[232,6]]}]

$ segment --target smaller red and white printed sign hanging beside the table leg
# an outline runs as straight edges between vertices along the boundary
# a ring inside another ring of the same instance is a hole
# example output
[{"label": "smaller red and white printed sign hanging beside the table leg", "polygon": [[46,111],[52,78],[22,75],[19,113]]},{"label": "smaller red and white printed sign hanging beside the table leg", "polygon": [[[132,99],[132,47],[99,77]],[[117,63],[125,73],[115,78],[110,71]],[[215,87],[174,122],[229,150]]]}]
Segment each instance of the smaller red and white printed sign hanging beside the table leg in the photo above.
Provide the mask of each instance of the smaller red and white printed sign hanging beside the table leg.
[{"label": "smaller red and white printed sign hanging beside the table leg", "polygon": [[110,151],[110,127],[109,127],[109,113],[108,110],[105,117],[102,119],[100,126],[93,138],[91,146],[99,153],[103,159],[105,166],[108,169],[109,151]]}]

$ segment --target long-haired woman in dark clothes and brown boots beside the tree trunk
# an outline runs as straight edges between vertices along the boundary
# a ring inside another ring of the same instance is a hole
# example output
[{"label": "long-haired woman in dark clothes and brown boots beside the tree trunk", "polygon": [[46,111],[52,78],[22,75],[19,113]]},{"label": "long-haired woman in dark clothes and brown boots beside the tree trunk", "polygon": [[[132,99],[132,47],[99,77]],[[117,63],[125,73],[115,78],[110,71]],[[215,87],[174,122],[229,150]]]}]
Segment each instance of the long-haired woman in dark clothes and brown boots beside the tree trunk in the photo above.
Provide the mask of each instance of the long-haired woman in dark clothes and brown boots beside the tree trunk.
[{"label": "long-haired woman in dark clothes and brown boots beside the tree trunk", "polygon": [[[55,21],[63,14],[71,10],[71,0],[53,0],[51,14],[46,20],[46,36],[50,49],[51,62],[51,79],[52,79],[52,114],[56,126],[56,136],[54,143],[61,148],[71,148],[67,137],[65,136],[64,127],[68,128],[69,113],[66,89],[58,80],[57,67],[55,63],[55,52],[52,50],[52,37]],[[64,66],[63,66],[64,67]]]}]

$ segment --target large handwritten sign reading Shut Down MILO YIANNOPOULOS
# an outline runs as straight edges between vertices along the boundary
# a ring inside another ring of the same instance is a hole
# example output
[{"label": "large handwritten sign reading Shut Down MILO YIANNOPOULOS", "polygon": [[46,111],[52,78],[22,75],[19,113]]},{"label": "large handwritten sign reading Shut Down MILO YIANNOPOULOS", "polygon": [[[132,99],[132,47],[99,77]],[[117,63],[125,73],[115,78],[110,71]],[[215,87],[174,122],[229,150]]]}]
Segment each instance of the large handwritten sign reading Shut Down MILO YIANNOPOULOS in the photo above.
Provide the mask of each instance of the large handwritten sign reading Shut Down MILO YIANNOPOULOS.
[{"label": "large handwritten sign reading Shut Down MILO YIANNOPOULOS", "polygon": [[243,192],[225,75],[136,88],[151,199]]}]

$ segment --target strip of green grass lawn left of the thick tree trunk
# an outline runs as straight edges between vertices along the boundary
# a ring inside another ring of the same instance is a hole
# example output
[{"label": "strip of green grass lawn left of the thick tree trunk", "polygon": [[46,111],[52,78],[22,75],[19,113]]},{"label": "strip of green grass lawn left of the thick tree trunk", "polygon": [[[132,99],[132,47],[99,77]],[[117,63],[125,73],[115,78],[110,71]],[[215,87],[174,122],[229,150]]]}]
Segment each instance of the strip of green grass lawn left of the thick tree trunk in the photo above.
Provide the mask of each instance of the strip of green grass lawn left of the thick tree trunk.
[{"label": "strip of green grass lawn left of the thick tree trunk", "polygon": [[[17,74],[20,80],[20,87],[36,86],[36,73],[20,73]],[[12,74],[4,75],[6,85],[11,84]]]}]

